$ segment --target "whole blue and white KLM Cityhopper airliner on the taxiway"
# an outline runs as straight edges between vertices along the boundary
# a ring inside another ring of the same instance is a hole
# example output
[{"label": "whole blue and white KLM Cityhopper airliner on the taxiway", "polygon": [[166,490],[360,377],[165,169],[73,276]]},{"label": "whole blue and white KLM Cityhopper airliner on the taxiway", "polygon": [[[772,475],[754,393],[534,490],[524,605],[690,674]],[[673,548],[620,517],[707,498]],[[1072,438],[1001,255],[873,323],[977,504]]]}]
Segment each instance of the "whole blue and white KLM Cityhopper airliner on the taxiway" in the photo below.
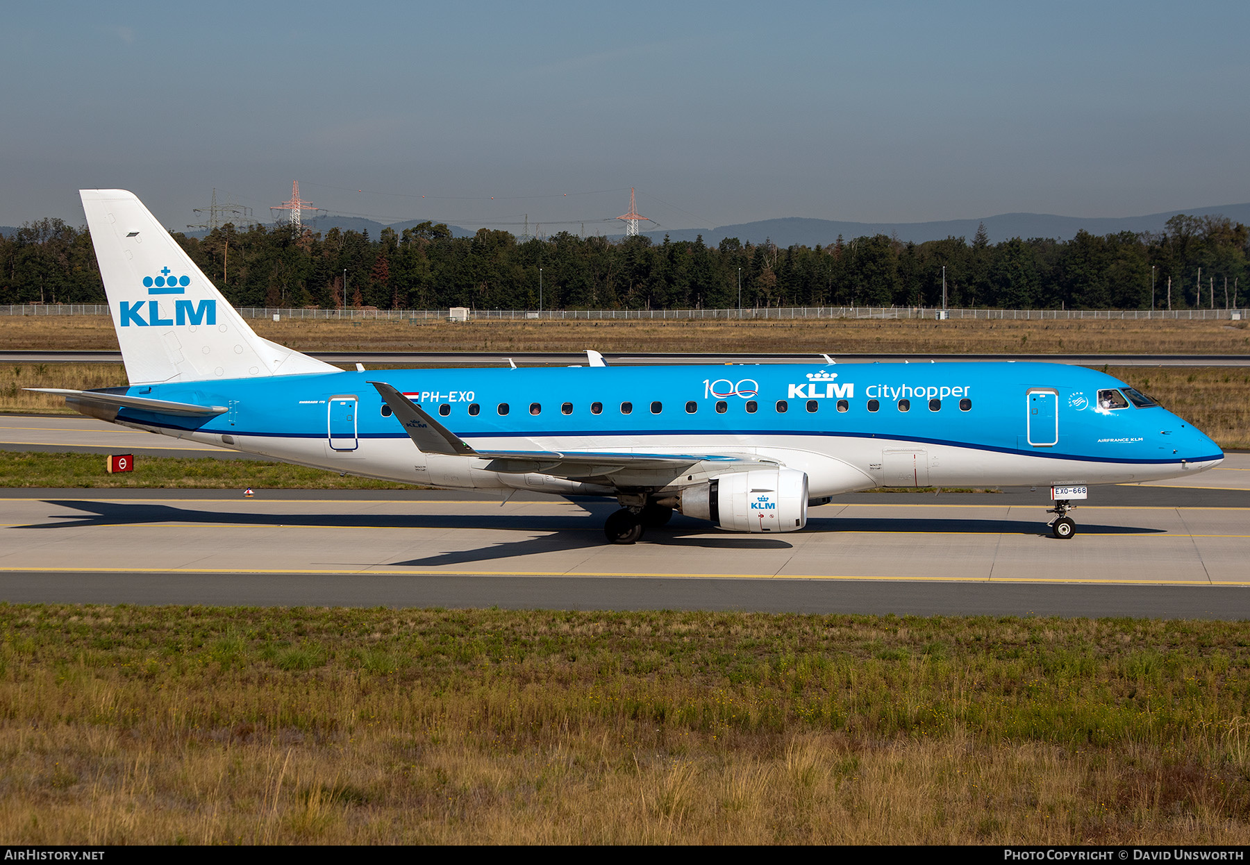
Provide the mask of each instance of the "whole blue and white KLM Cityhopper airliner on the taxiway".
[{"label": "whole blue and white KLM Cityhopper airliner on the taxiway", "polygon": [[1059,488],[1051,526],[1069,538],[1081,488],[1224,459],[1124,382],[1056,364],[608,368],[589,352],[575,368],[345,372],[256,336],[132,194],[81,196],[130,386],[45,392],[339,472],[615,498],[614,542],[674,509],[795,531],[829,496],[929,485]]}]

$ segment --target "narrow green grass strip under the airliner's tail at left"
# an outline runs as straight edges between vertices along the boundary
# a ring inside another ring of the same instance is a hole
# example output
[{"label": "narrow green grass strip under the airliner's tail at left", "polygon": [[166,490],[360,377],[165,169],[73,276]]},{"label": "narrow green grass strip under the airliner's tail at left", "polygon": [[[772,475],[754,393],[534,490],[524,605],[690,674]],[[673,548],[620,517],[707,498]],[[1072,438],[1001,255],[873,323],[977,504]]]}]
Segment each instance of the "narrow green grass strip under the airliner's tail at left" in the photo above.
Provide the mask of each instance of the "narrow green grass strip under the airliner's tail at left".
[{"label": "narrow green grass strip under the airliner's tail at left", "polygon": [[334,471],[305,469],[285,462],[255,460],[176,459],[136,456],[135,470],[105,471],[102,454],[46,454],[0,451],[0,486],[88,489],[296,489],[296,490],[404,490],[404,484],[369,478],[340,476]]}]

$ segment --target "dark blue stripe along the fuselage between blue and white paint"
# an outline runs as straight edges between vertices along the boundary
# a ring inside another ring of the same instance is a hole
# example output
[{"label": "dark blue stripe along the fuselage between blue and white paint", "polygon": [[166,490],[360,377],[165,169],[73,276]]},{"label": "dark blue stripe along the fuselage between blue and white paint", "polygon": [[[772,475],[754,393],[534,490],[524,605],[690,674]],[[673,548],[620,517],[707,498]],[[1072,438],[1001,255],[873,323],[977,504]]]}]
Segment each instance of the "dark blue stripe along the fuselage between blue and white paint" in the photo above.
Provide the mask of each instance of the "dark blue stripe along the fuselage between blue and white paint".
[{"label": "dark blue stripe along the fuselage between blue and white paint", "polygon": [[[126,411],[126,410],[124,410]],[[128,411],[128,415],[131,412]],[[132,412],[144,414],[144,412]],[[179,426],[176,424],[168,424],[155,420],[138,420],[136,422],[145,424],[148,426],[156,426],[159,429],[166,430],[179,430],[184,432],[208,432],[211,435],[245,435],[254,439],[311,439],[311,440],[324,440],[328,441],[329,436],[325,432],[261,432],[261,431],[249,431],[249,430],[202,430],[192,426]],[[455,431],[455,430],[452,430]],[[459,434],[458,434],[459,435]],[[531,438],[561,438],[561,436],[596,436],[596,438],[628,438],[628,439],[640,439],[645,436],[661,436],[661,435],[718,435],[718,436],[730,436],[730,435],[779,435],[779,436],[802,436],[802,438],[828,438],[828,439],[886,439],[889,441],[910,441],[915,444],[925,445],[944,445],[948,448],[959,448],[962,450],[981,450],[994,454],[1011,454],[1016,456],[1040,456],[1050,460],[1069,460],[1072,462],[1108,462],[1115,465],[1180,465],[1181,462],[1208,462],[1210,460],[1222,460],[1224,454],[1211,454],[1208,456],[1199,458],[1185,458],[1182,459],[1162,459],[1162,460],[1148,460],[1148,459],[1126,459],[1119,456],[1081,456],[1076,454],[1059,454],[1052,450],[1020,450],[1019,448],[999,448],[995,445],[981,445],[970,441],[951,441],[949,439],[926,439],[922,436],[911,435],[882,435],[876,432],[830,432],[824,430],[750,430],[750,431],[732,431],[732,430],[561,430],[561,431],[491,431],[491,432],[470,432],[464,435],[466,439],[531,439]],[[408,434],[400,432],[358,432],[358,439],[406,439]],[[632,445],[645,448],[645,444]],[[749,446],[765,446],[765,448],[784,448],[785,445],[749,445]]]}]

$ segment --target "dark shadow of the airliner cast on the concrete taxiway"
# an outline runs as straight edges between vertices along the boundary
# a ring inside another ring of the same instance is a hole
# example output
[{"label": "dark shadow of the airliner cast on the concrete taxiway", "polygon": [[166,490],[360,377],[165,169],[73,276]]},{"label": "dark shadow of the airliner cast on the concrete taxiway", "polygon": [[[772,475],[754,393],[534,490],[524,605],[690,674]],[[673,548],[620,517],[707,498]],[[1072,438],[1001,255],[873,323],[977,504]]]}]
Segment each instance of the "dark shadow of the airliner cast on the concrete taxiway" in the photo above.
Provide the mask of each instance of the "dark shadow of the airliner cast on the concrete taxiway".
[{"label": "dark shadow of the airliner cast on the concrete taxiway", "polygon": [[[275,514],[212,511],[174,508],[152,502],[45,500],[49,505],[68,508],[78,514],[52,514],[50,522],[14,526],[21,529],[64,529],[181,522],[198,525],[300,526],[338,529],[476,529],[526,535],[491,546],[441,552],[421,559],[390,562],[394,566],[462,565],[491,561],[536,552],[602,546],[602,520],[616,505],[610,501],[576,501],[582,509],[578,515],[509,515],[509,514]],[[1086,535],[1164,534],[1161,529],[1140,526],[1109,526],[1081,524]],[[534,536],[534,532],[542,532]],[[808,532],[874,532],[874,534],[981,534],[981,535],[1042,535],[1050,539],[1045,521],[1002,519],[914,519],[914,518],[818,518],[808,520]],[[1052,539],[1050,539],[1052,540]],[[711,548],[720,550],[788,550],[792,544],[782,536],[720,534],[700,520],[674,515],[669,525],[648,529],[642,544],[674,549]]]}]

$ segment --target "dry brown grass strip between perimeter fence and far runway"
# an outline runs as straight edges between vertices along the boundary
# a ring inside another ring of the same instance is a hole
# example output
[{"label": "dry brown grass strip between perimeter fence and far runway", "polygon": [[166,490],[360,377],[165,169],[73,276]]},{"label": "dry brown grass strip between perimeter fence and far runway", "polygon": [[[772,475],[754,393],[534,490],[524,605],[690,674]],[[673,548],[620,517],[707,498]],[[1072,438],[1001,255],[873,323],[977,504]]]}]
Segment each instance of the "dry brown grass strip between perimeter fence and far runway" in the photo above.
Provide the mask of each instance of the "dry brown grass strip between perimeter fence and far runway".
[{"label": "dry brown grass strip between perimeter fence and far runway", "polygon": [[[1248,354],[1246,321],[250,321],[301,351]],[[0,350],[118,349],[105,316],[0,316]]]}]

